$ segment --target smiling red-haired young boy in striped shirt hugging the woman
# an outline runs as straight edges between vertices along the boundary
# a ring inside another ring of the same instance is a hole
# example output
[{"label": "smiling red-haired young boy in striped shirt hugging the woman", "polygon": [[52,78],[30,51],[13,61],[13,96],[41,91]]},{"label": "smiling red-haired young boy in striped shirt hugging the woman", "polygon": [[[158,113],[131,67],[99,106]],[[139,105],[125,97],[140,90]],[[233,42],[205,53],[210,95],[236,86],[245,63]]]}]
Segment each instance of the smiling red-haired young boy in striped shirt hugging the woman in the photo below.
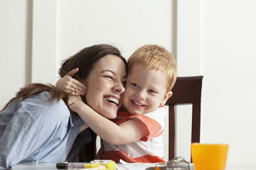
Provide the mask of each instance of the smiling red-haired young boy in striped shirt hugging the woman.
[{"label": "smiling red-haired young boy in striped shirt hugging the woman", "polygon": [[122,101],[127,112],[118,112],[115,124],[95,114],[81,97],[70,97],[70,108],[104,140],[102,159],[164,162],[164,104],[172,96],[176,77],[172,54],[163,46],[144,45],[129,57]]}]

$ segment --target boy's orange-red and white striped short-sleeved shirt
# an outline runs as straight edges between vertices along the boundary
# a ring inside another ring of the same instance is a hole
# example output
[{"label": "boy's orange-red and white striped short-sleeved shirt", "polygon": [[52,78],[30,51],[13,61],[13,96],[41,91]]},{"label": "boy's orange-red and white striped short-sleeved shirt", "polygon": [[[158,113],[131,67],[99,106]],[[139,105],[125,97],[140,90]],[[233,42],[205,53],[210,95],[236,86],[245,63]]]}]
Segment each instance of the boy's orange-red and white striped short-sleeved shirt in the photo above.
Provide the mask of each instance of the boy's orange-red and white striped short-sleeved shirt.
[{"label": "boy's orange-red and white striped short-sleeved shirt", "polygon": [[104,141],[104,153],[102,159],[120,159],[125,162],[164,162],[164,145],[161,136],[164,129],[164,116],[167,114],[165,106],[159,106],[157,110],[143,115],[131,115],[128,112],[118,112],[113,122],[119,125],[129,119],[138,119],[147,126],[149,134],[139,141],[125,145],[111,145]]}]

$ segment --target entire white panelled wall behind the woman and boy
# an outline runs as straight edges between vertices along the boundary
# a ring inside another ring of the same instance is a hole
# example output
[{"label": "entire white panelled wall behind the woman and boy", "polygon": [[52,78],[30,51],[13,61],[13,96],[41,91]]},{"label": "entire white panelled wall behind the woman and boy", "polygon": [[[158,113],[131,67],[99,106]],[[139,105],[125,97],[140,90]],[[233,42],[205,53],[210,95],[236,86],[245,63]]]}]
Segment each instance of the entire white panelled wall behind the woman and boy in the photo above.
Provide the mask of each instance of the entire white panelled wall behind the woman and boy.
[{"label": "entire white panelled wall behind the woman and boy", "polygon": [[[128,58],[138,46],[157,43],[177,57],[179,76],[204,75],[201,141],[229,143],[230,165],[256,165],[255,5],[0,0],[0,106],[31,81],[54,83],[60,61],[84,46],[111,43]],[[178,108],[177,125],[177,155],[188,160],[190,109]]]}]

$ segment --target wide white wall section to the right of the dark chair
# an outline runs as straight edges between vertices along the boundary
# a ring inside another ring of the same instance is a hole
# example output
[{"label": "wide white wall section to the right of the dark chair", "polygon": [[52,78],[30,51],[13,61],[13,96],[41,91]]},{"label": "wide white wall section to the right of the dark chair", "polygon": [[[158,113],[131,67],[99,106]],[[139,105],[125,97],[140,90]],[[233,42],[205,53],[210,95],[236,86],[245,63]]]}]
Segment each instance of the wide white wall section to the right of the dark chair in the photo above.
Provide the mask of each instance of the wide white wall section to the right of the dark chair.
[{"label": "wide white wall section to the right of the dark chair", "polygon": [[255,1],[202,1],[202,142],[256,164]]}]

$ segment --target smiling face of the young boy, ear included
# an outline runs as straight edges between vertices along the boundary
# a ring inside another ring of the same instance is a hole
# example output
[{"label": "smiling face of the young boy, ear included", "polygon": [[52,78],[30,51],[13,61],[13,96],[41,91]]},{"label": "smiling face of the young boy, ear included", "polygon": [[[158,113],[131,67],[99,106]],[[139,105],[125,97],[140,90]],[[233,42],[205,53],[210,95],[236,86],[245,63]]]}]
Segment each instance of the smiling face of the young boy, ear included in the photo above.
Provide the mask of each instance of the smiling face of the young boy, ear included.
[{"label": "smiling face of the young boy, ear included", "polygon": [[161,71],[136,64],[127,77],[123,105],[129,113],[142,115],[165,104],[170,96],[172,92],[166,92],[166,77]]}]

